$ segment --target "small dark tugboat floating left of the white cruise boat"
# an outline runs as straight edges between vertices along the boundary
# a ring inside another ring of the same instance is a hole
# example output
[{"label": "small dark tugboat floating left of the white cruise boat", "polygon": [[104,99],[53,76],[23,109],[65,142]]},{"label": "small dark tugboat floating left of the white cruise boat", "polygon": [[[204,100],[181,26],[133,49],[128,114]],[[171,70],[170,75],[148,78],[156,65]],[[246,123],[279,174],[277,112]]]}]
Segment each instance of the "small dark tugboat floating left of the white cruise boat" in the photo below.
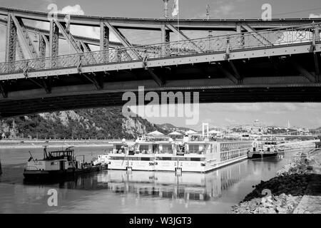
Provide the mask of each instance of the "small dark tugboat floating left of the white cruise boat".
[{"label": "small dark tugboat floating left of the white cruise boat", "polygon": [[[30,154],[31,155],[31,154]],[[31,155],[24,169],[25,180],[56,180],[66,177],[76,177],[85,172],[106,170],[108,163],[100,156],[91,163],[77,161],[75,152],[71,147],[66,150],[47,152],[44,146],[44,159],[35,160]]]}]

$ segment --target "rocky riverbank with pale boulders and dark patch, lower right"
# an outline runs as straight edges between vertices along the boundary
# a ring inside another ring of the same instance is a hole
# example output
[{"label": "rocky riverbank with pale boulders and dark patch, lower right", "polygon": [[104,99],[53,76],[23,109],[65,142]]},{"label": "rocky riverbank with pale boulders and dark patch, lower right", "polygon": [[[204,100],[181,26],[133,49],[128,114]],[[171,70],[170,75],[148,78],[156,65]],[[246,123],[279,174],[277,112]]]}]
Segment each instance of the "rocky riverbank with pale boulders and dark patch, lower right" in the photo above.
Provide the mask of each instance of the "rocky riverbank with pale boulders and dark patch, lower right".
[{"label": "rocky riverbank with pale boulders and dark patch, lower right", "polygon": [[301,153],[277,172],[277,176],[253,186],[239,204],[232,207],[235,214],[292,214],[300,203],[314,174],[310,162],[314,157]]}]

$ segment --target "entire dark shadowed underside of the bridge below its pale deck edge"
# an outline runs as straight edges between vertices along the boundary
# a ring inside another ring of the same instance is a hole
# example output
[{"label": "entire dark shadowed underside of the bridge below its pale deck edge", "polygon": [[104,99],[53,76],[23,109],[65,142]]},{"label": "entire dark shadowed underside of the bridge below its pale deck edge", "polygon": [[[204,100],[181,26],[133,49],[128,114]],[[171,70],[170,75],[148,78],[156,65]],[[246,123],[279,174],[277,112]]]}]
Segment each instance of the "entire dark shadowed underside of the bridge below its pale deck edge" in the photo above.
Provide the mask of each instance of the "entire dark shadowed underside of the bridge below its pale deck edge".
[{"label": "entire dark shadowed underside of the bridge below its pale deck edge", "polygon": [[[91,74],[91,78],[99,79],[100,86],[78,73],[51,76],[50,90],[41,78],[35,79],[40,83],[29,78],[2,81],[1,91],[7,98],[0,98],[0,118],[123,105],[126,103],[122,100],[123,93],[137,93],[138,86],[156,93],[199,92],[200,103],[321,102],[321,84],[317,83],[314,58],[314,53],[305,53],[153,68],[153,73],[165,81],[161,87],[144,68]],[[300,63],[300,68],[294,68],[293,63]],[[315,78],[307,78],[302,73]],[[230,80],[227,74],[235,80]]]}]

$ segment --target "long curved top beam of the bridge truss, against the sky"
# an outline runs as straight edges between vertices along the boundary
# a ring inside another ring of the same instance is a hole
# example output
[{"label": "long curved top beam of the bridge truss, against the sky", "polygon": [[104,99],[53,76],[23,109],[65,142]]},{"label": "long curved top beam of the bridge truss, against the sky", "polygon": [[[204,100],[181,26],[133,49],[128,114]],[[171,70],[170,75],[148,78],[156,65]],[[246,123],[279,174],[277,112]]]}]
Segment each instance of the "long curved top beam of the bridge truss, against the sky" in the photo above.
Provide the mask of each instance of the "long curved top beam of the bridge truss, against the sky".
[{"label": "long curved top beam of the bridge truss, against the sky", "polygon": [[[13,11],[16,16],[23,19],[30,19],[36,21],[48,22],[48,13],[39,11],[30,11],[22,9],[12,9],[0,7],[0,15],[7,16],[9,12]],[[58,21],[63,22],[65,14],[58,14]],[[124,24],[126,28],[133,26],[139,29],[143,26],[151,26],[151,28],[161,29],[161,24],[174,23],[175,19],[138,19],[138,18],[121,18],[121,17],[101,17],[101,16],[81,16],[71,15],[71,24],[73,25],[87,25],[87,26],[100,26],[101,19],[109,21],[113,24]],[[222,30],[224,28],[229,31],[235,31],[235,26],[239,22],[244,22],[254,29],[270,29],[282,26],[297,26],[303,24],[310,24],[312,21],[320,23],[321,19],[272,19],[270,21],[263,21],[261,19],[180,19],[180,29],[184,30]]]}]

